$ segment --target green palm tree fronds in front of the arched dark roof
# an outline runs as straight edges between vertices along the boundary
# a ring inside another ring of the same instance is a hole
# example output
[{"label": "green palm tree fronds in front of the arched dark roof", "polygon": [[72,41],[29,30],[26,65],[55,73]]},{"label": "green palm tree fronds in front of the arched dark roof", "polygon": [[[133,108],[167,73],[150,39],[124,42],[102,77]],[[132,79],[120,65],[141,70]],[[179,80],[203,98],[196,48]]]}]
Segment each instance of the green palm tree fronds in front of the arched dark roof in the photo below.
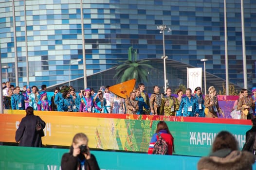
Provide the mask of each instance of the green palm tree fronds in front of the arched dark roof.
[{"label": "green palm tree fronds in front of the arched dark roof", "polygon": [[151,65],[146,64],[149,60],[140,60],[140,61],[121,61],[114,77],[117,78],[117,82],[125,82],[130,79],[136,79],[137,82],[148,82],[147,79],[147,70],[146,68],[153,68]]}]

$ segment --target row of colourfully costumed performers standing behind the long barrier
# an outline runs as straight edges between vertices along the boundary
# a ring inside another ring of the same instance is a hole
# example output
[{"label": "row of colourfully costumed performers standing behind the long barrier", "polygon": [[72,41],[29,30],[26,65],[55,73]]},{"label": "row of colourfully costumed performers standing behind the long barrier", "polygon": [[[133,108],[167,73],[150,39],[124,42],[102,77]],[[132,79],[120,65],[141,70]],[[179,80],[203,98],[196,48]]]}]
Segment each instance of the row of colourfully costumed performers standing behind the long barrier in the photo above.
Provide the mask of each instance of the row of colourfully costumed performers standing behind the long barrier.
[{"label": "row of colourfully costumed performers standing behind the long barrier", "polygon": [[[183,117],[225,117],[219,107],[217,92],[214,86],[208,88],[208,94],[202,96],[201,87],[196,87],[194,93],[187,88],[185,96],[183,90],[177,91],[177,98],[172,96],[172,89],[166,88],[160,92],[158,85],[153,86],[152,94],[148,95],[145,85],[140,83],[129,93],[127,99],[114,95],[109,85],[101,86],[98,91],[92,88],[75,92],[72,86],[55,87],[54,95],[49,100],[46,85],[30,87],[24,85],[14,87],[10,82],[2,85],[4,109],[25,110],[28,106],[34,110],[88,112],[88,113],[117,113],[137,115],[165,115]],[[256,88],[252,89],[252,97],[248,90],[242,89],[239,99],[234,103],[231,117],[234,119],[252,119],[255,117]],[[78,94],[78,95],[77,95]]]}]

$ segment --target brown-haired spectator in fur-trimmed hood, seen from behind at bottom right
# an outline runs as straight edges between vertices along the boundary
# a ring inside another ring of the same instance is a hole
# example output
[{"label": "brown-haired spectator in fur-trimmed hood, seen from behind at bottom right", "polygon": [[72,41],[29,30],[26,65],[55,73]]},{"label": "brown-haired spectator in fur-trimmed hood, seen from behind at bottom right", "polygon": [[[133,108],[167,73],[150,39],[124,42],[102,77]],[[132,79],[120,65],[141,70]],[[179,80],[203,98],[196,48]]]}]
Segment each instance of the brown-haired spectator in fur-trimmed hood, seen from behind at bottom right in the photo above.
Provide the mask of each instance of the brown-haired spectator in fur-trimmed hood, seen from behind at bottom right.
[{"label": "brown-haired spectator in fur-trimmed hood, seen from behind at bottom right", "polygon": [[252,170],[254,155],[238,150],[236,138],[227,131],[221,131],[212,145],[212,153],[202,157],[198,170]]}]

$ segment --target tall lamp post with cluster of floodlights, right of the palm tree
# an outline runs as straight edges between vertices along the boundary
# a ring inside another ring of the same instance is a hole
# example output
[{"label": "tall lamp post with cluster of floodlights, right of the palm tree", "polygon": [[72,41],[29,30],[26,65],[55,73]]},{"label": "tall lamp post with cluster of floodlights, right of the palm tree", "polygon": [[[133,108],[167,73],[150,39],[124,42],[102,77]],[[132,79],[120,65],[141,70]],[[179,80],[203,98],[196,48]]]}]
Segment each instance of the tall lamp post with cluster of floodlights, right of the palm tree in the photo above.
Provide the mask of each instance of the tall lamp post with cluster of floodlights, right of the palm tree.
[{"label": "tall lamp post with cluster of floodlights, right of the palm tree", "polygon": [[167,29],[167,33],[169,33],[169,32],[171,32],[171,29],[170,29],[170,27],[167,27],[166,25],[157,26],[157,29],[160,30],[160,33],[163,33],[163,52],[164,52],[164,55],[161,58],[164,59],[164,79],[165,79],[165,91],[166,91],[167,79],[166,79],[165,60],[168,58],[168,56],[165,56],[165,30]]}]

